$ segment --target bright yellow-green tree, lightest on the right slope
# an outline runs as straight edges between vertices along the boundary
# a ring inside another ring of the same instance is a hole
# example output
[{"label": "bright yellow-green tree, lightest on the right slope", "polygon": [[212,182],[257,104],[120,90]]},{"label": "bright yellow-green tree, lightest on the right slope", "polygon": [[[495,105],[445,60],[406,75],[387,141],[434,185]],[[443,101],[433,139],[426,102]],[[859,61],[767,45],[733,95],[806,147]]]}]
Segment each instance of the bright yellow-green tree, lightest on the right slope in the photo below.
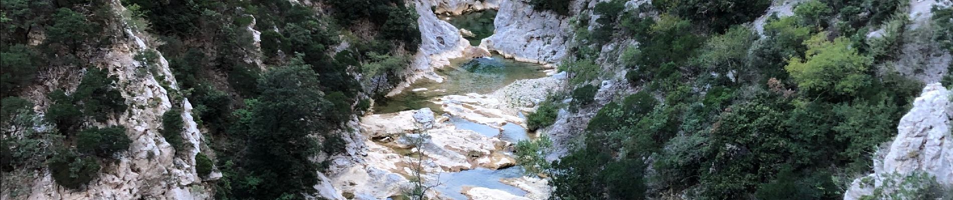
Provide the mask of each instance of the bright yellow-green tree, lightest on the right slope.
[{"label": "bright yellow-green tree, lightest on the right slope", "polygon": [[820,33],[805,41],[806,59],[793,58],[784,66],[798,85],[808,91],[835,95],[852,95],[869,85],[870,77],[865,72],[872,60],[858,54],[844,38],[833,42],[826,38],[826,33]]}]

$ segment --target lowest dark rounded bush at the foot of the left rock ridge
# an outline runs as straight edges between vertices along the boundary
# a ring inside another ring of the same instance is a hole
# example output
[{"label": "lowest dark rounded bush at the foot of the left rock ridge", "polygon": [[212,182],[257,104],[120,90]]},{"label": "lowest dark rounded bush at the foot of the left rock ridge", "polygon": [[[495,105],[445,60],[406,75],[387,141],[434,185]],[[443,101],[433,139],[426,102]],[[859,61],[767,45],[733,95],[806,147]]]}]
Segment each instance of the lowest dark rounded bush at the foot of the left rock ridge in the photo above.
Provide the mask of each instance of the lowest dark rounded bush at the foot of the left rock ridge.
[{"label": "lowest dark rounded bush at the foot of the left rock ridge", "polygon": [[99,163],[89,156],[59,151],[48,161],[53,181],[72,190],[80,190],[99,177]]}]

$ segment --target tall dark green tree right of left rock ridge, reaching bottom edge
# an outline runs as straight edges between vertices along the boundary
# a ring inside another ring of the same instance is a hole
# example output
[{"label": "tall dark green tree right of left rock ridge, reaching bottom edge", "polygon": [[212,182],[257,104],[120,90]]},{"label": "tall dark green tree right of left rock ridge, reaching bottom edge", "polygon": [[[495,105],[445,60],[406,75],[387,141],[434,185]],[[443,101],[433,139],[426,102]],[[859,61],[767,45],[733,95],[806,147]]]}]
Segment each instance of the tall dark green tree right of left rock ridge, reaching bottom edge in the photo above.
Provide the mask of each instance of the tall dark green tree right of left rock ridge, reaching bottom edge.
[{"label": "tall dark green tree right of left rock ridge, reaching bottom edge", "polygon": [[318,166],[311,158],[319,143],[311,135],[330,133],[333,123],[323,119],[329,119],[324,112],[333,103],[324,99],[311,68],[300,62],[272,68],[258,80],[261,95],[235,111],[236,128],[254,141],[247,143],[247,160],[240,168],[246,177],[268,184],[239,186],[234,195],[273,199],[314,191]]}]

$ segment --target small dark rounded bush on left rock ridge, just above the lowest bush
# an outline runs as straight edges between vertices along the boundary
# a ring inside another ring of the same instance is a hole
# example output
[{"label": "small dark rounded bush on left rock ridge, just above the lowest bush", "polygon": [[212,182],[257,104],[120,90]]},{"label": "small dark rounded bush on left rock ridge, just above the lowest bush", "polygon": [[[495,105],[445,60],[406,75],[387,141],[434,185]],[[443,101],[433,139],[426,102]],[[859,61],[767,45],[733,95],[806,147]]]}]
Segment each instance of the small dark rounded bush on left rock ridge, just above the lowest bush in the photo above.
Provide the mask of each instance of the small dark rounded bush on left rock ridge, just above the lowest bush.
[{"label": "small dark rounded bush on left rock ridge, just above the lowest bush", "polygon": [[126,128],[122,126],[92,127],[76,135],[76,149],[80,153],[103,158],[128,150],[130,143],[132,140],[126,136]]}]

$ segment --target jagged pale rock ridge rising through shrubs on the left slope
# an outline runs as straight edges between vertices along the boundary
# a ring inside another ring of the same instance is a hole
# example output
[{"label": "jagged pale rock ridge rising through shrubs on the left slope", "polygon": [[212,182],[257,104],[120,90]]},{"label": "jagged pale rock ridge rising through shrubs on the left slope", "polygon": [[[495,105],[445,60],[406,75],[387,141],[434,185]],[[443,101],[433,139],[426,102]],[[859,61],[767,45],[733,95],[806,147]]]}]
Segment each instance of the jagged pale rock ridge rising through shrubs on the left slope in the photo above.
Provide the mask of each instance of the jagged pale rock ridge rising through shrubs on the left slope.
[{"label": "jagged pale rock ridge rising through shrubs on the left slope", "polygon": [[[114,10],[125,9],[118,1],[112,2]],[[126,26],[123,26],[126,27]],[[166,88],[160,82],[176,89],[176,82],[169,64],[159,55],[157,62],[150,64],[155,73],[143,74],[145,63],[133,57],[146,50],[154,50],[131,29],[125,29],[120,41],[101,57],[92,59],[92,65],[108,69],[119,80],[119,90],[129,110],[107,125],[122,125],[132,140],[130,149],[115,162],[104,164],[99,178],[93,180],[84,191],[71,191],[56,185],[49,171],[30,183],[25,199],[211,199],[212,190],[202,183],[195,173],[195,154],[204,139],[192,118],[189,100],[172,102]],[[157,52],[157,51],[156,51]],[[161,76],[160,76],[161,75]],[[160,80],[160,77],[165,77]],[[187,147],[174,150],[159,133],[162,114],[180,103],[185,121],[183,137]],[[176,154],[178,152],[178,154]],[[4,198],[10,197],[4,191]]]}]

